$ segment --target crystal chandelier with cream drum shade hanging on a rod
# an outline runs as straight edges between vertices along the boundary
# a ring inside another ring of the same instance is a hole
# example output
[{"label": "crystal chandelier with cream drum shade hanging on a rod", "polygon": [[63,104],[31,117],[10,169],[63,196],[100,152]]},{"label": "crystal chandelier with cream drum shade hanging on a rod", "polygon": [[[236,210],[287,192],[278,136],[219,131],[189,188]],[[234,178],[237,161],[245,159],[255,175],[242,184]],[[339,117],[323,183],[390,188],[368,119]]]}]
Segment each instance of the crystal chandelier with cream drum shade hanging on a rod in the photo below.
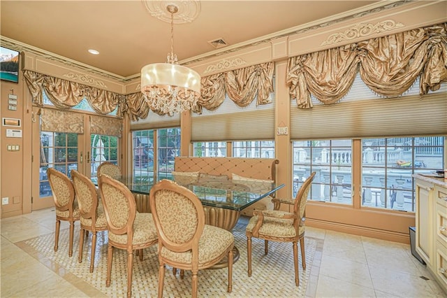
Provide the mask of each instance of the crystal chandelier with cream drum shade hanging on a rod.
[{"label": "crystal chandelier with cream drum shade hanging on a rod", "polygon": [[173,115],[189,111],[200,97],[200,76],[181,66],[174,54],[174,13],[178,7],[168,5],[170,13],[170,53],[167,63],[148,64],[141,69],[141,92],[152,111]]}]

